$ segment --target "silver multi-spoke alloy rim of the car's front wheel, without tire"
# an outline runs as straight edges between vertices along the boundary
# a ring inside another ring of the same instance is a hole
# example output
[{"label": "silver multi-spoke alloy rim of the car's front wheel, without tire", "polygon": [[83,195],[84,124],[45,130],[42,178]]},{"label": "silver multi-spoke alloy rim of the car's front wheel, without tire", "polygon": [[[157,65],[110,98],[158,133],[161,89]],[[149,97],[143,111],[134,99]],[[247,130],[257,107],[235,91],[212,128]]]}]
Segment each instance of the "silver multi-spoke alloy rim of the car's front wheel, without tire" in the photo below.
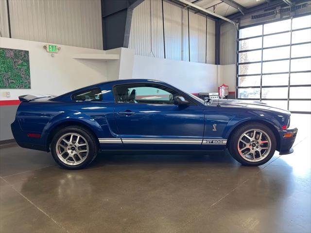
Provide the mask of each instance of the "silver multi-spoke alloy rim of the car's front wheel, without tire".
[{"label": "silver multi-spoke alloy rim of the car's front wheel, without tire", "polygon": [[249,129],[239,138],[238,151],[244,160],[250,162],[261,161],[271,151],[271,139],[261,129]]}]

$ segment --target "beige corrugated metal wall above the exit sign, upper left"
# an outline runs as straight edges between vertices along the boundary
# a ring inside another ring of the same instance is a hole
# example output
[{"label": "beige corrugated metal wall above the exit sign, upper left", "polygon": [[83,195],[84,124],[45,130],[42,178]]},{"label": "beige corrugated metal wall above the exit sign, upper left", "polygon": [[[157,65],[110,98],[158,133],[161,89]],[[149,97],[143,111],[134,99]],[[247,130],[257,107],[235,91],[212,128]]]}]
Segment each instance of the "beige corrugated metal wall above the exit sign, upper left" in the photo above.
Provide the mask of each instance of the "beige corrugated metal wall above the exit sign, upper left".
[{"label": "beige corrugated metal wall above the exit sign, upper left", "polygon": [[[3,2],[1,32],[8,37]],[[103,49],[100,0],[9,0],[9,8],[12,38]]]}]

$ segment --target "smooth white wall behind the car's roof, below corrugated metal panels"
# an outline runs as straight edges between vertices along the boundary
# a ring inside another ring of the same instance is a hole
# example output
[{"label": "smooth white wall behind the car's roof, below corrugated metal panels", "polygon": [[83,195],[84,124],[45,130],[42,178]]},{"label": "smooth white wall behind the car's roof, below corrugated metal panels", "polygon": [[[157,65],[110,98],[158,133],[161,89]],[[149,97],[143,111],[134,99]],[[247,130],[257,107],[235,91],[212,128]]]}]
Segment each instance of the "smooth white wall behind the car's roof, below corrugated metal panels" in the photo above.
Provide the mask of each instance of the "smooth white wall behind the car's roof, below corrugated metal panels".
[{"label": "smooth white wall behind the car's roof, below corrugated metal panels", "polygon": [[132,78],[167,82],[190,93],[217,91],[217,65],[135,55]]}]

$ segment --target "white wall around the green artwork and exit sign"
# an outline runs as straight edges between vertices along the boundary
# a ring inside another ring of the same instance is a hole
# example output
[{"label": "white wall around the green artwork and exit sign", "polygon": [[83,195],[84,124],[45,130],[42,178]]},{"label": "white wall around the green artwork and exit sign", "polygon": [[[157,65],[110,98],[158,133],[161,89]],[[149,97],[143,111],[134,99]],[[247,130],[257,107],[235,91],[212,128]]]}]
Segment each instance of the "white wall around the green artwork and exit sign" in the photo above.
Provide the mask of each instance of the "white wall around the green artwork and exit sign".
[{"label": "white wall around the green artwork and exit sign", "polygon": [[[23,94],[59,95],[98,82],[107,77],[107,62],[74,59],[74,54],[105,54],[103,50],[61,45],[54,57],[43,48],[45,43],[0,37],[0,47],[28,50],[31,89],[0,89],[1,100],[17,100]],[[113,78],[118,78],[118,74]],[[6,97],[10,91],[11,97]]]}]

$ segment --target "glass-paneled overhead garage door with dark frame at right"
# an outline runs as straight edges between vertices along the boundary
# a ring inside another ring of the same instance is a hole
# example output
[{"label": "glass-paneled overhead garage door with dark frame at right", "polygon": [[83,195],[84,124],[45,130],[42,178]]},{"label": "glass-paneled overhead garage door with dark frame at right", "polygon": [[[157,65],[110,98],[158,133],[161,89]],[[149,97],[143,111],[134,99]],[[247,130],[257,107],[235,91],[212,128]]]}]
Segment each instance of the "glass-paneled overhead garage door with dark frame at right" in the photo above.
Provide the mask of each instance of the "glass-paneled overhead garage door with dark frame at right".
[{"label": "glass-paneled overhead garage door with dark frame at right", "polygon": [[238,99],[311,113],[311,15],[239,30]]}]

